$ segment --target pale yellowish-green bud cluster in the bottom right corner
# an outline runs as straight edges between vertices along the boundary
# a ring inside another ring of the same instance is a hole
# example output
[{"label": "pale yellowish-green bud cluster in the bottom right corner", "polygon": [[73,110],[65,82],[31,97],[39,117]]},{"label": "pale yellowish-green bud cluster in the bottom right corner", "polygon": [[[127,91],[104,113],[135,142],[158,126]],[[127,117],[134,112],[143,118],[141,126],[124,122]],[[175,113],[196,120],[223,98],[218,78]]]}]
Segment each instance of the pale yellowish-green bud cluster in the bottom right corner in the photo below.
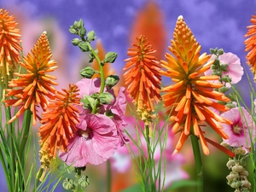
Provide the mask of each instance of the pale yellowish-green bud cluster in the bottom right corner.
[{"label": "pale yellowish-green bud cluster in the bottom right corner", "polygon": [[227,148],[232,148],[232,151],[236,156],[233,159],[229,159],[226,166],[231,170],[230,174],[226,177],[228,184],[231,188],[236,189],[235,192],[248,192],[251,189],[251,183],[248,181],[248,172],[245,169],[246,164],[246,150],[242,147],[235,148],[227,146],[227,144],[222,143]]}]

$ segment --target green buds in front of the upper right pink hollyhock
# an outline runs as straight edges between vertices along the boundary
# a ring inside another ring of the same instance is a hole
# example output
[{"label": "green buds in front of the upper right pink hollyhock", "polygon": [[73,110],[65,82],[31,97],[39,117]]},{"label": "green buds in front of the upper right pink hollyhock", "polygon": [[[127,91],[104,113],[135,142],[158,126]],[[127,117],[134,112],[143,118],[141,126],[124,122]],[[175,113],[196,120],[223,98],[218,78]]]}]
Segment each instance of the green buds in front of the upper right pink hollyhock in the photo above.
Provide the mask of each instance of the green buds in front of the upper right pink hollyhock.
[{"label": "green buds in front of the upper right pink hollyhock", "polygon": [[233,103],[236,101],[235,95],[233,93],[226,94],[230,88],[226,86],[227,83],[231,82],[229,75],[224,75],[224,72],[229,72],[228,64],[221,63],[218,57],[224,54],[224,49],[210,49],[212,55],[215,55],[215,61],[212,64],[212,75],[217,75],[219,81],[224,84],[221,88],[218,88],[217,91],[224,93],[227,97],[230,98],[230,102],[221,102],[221,104],[226,105],[228,108],[236,108],[236,105]]}]

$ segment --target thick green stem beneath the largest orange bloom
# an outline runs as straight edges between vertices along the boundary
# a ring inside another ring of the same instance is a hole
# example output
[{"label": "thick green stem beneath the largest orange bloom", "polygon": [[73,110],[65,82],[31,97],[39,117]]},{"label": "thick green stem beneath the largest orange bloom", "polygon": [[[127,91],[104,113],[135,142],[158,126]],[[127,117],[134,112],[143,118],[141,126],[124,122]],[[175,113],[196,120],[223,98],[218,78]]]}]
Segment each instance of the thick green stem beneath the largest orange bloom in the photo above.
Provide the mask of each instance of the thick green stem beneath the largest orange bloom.
[{"label": "thick green stem beneath the largest orange bloom", "polygon": [[[191,128],[193,130],[193,127]],[[201,153],[200,153],[200,148],[198,143],[198,137],[196,137],[194,134],[191,134],[190,136],[191,136],[193,153],[195,157],[197,192],[203,192],[203,172],[202,172],[202,161],[201,161]]]}]

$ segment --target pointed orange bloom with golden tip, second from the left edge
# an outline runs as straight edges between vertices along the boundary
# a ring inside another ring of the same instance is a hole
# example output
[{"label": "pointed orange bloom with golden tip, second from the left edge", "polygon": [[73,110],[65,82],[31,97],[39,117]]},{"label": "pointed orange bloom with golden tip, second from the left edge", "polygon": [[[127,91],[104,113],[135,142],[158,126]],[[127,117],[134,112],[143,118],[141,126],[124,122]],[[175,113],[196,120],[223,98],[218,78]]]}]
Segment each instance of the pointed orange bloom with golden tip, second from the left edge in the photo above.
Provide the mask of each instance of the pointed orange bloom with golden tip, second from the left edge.
[{"label": "pointed orange bloom with golden tip, second from the left edge", "polygon": [[24,62],[20,62],[20,65],[26,68],[26,73],[14,73],[19,78],[9,81],[9,87],[18,89],[7,89],[6,96],[15,96],[16,98],[4,102],[6,106],[21,106],[15,116],[9,119],[9,123],[29,108],[32,111],[32,123],[35,125],[36,119],[39,118],[38,105],[44,109],[48,104],[46,96],[53,98],[52,94],[55,93],[55,88],[52,85],[57,85],[57,83],[51,79],[56,78],[47,73],[53,72],[57,66],[54,60],[50,60],[51,56],[49,41],[46,32],[43,32],[32,49],[32,53],[28,53],[24,57]]}]

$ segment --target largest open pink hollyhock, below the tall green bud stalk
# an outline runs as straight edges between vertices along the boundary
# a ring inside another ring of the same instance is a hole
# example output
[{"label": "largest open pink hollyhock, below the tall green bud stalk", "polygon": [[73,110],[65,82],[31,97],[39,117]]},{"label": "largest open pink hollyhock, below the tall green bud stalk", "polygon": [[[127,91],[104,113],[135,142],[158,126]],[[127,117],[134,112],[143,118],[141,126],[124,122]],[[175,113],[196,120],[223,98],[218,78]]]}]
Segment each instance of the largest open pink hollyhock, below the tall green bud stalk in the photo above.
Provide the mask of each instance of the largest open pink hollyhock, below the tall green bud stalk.
[{"label": "largest open pink hollyhock, below the tall green bud stalk", "polygon": [[116,151],[119,136],[113,120],[103,114],[86,114],[68,144],[68,151],[59,154],[68,166],[101,164]]}]

